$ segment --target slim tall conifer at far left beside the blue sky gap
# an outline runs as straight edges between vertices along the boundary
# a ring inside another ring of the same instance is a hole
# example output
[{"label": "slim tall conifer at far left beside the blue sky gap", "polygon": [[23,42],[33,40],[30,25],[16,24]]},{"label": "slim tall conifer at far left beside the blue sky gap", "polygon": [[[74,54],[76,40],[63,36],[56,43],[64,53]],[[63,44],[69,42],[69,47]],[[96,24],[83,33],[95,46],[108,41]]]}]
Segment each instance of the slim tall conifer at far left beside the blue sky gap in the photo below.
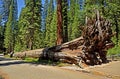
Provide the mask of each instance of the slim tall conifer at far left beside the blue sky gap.
[{"label": "slim tall conifer at far left beside the blue sky gap", "polygon": [[12,0],[11,1],[11,5],[10,5],[10,12],[9,12],[9,17],[8,17],[8,21],[6,24],[6,28],[5,28],[5,39],[4,39],[4,44],[5,44],[5,48],[7,48],[7,52],[11,52],[14,51],[14,27],[15,27],[15,23],[16,23],[16,10],[17,10],[17,2],[16,0]]}]

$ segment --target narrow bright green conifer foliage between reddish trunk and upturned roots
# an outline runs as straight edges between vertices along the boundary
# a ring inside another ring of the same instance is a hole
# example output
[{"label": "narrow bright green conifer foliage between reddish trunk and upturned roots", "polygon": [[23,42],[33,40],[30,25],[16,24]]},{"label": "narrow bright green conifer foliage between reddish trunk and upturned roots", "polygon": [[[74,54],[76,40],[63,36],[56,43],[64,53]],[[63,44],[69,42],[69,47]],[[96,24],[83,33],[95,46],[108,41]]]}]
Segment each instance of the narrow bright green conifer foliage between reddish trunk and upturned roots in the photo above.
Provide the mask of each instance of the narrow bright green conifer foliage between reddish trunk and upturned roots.
[{"label": "narrow bright green conifer foliage between reddish trunk and upturned roots", "polygon": [[68,14],[68,36],[69,40],[75,39],[80,36],[80,22],[82,11],[80,11],[80,6],[77,0],[71,0],[70,11]]}]

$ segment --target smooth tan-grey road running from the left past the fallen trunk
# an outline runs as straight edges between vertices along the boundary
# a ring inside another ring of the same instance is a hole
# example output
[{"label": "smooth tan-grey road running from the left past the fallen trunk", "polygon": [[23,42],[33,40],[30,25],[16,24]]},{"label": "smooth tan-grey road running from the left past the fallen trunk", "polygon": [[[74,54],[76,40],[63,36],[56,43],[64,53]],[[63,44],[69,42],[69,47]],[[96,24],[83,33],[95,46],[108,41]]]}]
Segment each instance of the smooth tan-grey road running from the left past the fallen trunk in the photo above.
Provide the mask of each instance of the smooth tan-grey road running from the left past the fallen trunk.
[{"label": "smooth tan-grey road running from the left past the fallen trunk", "polygon": [[[0,57],[0,60],[1,59],[0,69],[8,75],[9,79],[113,79],[106,75],[98,75],[93,72],[73,71],[59,67],[25,63],[20,60],[6,60],[3,57]],[[106,68],[107,66],[104,67]],[[117,67],[115,66],[115,68],[118,67],[120,67],[120,65]],[[94,70],[94,72],[95,70],[99,70],[99,68],[91,69]],[[116,70],[114,72],[116,73]],[[117,70],[117,72],[119,73],[119,70]]]}]

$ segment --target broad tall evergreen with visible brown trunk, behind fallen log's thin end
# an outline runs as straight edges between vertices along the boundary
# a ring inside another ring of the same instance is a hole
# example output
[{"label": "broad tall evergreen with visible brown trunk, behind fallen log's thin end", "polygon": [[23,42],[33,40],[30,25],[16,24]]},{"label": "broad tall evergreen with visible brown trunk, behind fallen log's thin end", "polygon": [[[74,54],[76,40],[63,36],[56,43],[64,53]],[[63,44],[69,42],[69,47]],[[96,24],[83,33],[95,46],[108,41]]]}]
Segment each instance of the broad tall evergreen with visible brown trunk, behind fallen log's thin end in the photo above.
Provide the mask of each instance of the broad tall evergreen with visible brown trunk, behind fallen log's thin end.
[{"label": "broad tall evergreen with visible brown trunk, behind fallen log's thin end", "polygon": [[41,46],[41,0],[25,0],[25,4],[18,22],[19,41],[16,44],[16,50],[17,48],[31,50]]}]

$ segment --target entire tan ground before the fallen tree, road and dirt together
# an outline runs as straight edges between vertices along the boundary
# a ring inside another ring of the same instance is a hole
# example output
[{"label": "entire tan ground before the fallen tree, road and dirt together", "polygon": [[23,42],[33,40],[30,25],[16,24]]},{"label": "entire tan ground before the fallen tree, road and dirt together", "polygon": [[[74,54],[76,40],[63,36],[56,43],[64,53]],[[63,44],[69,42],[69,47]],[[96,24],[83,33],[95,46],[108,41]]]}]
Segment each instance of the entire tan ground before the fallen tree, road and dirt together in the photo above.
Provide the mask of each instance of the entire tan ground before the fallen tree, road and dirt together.
[{"label": "entire tan ground before the fallen tree, road and dirt together", "polygon": [[120,79],[120,61],[80,69],[75,65],[56,67],[26,63],[0,55],[0,72],[5,79]]}]

